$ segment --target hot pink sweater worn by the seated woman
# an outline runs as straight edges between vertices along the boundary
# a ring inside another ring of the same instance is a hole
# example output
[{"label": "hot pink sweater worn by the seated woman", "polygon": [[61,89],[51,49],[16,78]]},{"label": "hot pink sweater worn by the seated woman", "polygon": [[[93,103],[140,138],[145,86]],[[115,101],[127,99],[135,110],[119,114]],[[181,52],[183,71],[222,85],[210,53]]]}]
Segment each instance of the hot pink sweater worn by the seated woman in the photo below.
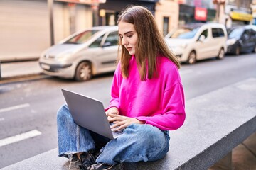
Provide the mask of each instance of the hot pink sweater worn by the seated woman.
[{"label": "hot pink sweater worn by the seated woman", "polygon": [[159,77],[141,81],[135,57],[129,62],[129,77],[122,77],[120,63],[114,72],[110,107],[160,130],[176,130],[185,120],[183,86],[178,68],[166,57],[158,57]]}]

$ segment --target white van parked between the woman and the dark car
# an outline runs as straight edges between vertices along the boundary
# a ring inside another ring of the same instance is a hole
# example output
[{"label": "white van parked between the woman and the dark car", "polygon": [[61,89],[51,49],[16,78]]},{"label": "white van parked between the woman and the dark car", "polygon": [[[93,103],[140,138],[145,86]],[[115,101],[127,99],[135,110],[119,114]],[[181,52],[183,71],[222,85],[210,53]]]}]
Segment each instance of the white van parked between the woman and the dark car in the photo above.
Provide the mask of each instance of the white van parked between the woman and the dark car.
[{"label": "white van parked between the woman and the dark car", "polygon": [[227,30],[220,23],[187,24],[172,30],[165,40],[180,62],[188,64],[212,57],[223,59],[227,51]]}]

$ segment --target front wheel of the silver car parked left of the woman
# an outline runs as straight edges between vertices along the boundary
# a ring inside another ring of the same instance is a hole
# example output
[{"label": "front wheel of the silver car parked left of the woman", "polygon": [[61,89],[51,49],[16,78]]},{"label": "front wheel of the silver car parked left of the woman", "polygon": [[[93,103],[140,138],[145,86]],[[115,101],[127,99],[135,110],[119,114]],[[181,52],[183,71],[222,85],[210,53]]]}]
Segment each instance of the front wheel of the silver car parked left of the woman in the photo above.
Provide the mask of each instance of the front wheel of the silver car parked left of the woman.
[{"label": "front wheel of the silver car parked left of the woman", "polygon": [[92,65],[90,62],[81,62],[75,70],[76,81],[87,81],[92,78]]}]

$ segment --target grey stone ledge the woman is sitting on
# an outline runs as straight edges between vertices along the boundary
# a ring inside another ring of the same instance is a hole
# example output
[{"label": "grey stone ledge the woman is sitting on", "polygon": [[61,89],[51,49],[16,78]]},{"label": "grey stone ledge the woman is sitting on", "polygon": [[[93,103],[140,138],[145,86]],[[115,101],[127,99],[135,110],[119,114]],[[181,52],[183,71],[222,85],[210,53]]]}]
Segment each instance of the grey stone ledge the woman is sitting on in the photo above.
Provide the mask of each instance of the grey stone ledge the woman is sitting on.
[{"label": "grey stone ledge the woman is sitting on", "polygon": [[[256,132],[256,79],[247,79],[186,103],[186,122],[170,131],[169,153],[157,162],[126,164],[125,169],[208,169]],[[68,169],[58,150],[39,154],[3,170]],[[77,169],[72,166],[72,169]]]}]

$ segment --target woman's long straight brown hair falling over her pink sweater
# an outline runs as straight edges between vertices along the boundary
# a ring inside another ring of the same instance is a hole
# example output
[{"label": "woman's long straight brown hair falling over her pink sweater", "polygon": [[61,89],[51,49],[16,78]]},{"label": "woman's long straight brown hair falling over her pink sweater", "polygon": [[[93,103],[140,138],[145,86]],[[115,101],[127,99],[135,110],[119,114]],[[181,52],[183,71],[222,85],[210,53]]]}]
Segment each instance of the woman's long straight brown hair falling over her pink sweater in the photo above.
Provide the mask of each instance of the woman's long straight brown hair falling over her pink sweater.
[{"label": "woman's long straight brown hair falling over her pink sweater", "polygon": [[[156,57],[159,55],[169,58],[180,68],[181,65],[178,59],[167,47],[156,25],[154,16],[148,9],[142,6],[130,6],[119,15],[117,24],[121,21],[132,23],[137,32],[138,40],[135,47],[135,56],[142,81],[152,79],[155,75],[158,75]],[[123,77],[129,77],[128,66],[131,55],[122,45],[122,40],[119,40],[120,46],[122,47],[120,56],[122,75]]]}]

